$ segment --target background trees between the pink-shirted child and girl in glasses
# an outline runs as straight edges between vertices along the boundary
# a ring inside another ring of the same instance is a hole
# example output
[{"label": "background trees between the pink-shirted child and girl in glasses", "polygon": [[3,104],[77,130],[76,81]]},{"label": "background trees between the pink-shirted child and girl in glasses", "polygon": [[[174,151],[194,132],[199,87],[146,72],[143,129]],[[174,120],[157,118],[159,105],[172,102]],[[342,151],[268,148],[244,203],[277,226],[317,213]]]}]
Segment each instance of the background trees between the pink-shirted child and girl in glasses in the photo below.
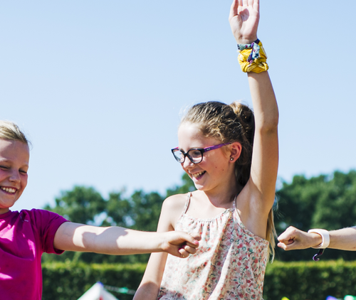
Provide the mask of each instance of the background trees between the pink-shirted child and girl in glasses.
[{"label": "background trees between the pink-shirted child and girl in glasses", "polygon": [[[158,193],[135,191],[130,197],[110,193],[108,200],[94,188],[75,186],[61,193],[56,206],[45,207],[75,223],[100,226],[121,226],[144,231],[156,231],[163,198]],[[42,261],[73,262],[147,262],[149,255],[112,256],[94,253],[64,252],[63,255],[43,254]]]}]

